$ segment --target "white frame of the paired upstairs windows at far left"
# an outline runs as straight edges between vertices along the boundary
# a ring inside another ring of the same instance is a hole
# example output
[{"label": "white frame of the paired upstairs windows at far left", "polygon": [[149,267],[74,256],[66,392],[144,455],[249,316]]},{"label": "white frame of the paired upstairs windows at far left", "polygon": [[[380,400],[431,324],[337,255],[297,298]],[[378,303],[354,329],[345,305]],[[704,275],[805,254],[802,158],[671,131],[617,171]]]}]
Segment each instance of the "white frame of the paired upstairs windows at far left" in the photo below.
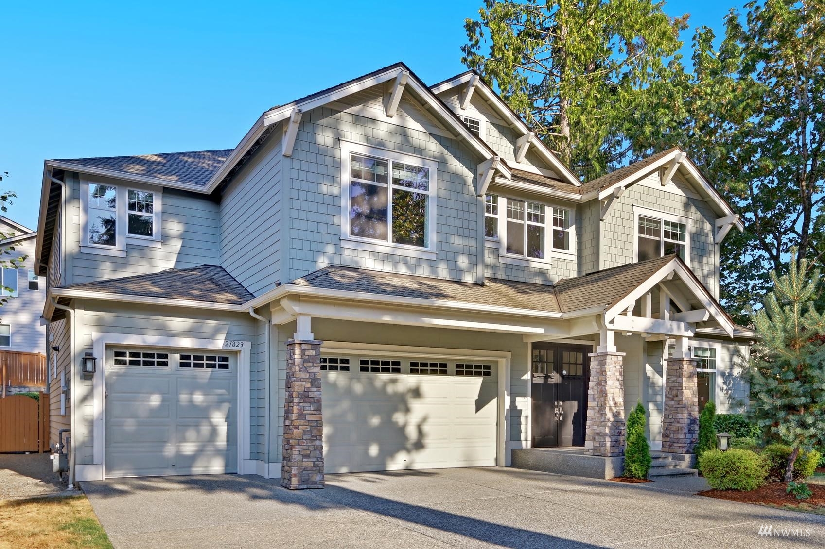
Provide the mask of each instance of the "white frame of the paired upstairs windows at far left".
[{"label": "white frame of the paired upstairs windows at far left", "polygon": [[[94,244],[89,242],[89,185],[109,185],[115,187],[115,246]],[[140,237],[128,234],[129,231],[129,190],[140,190],[153,193],[153,236]],[[162,246],[162,218],[163,218],[163,190],[158,187],[118,185],[113,181],[103,179],[82,179],[80,181],[80,202],[81,217],[80,230],[80,251],[83,253],[97,254],[101,256],[126,256],[126,246],[148,246],[159,248]]]}]

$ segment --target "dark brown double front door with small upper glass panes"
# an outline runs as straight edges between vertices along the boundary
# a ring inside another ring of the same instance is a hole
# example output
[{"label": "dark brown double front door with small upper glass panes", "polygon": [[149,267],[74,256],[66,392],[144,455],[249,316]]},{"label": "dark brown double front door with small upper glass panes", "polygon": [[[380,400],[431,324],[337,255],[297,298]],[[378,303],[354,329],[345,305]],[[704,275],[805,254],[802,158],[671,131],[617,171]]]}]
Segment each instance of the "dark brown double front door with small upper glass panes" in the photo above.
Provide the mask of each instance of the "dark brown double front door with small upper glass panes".
[{"label": "dark brown double front door with small upper glass panes", "polygon": [[534,448],[584,446],[591,352],[587,345],[533,344]]}]

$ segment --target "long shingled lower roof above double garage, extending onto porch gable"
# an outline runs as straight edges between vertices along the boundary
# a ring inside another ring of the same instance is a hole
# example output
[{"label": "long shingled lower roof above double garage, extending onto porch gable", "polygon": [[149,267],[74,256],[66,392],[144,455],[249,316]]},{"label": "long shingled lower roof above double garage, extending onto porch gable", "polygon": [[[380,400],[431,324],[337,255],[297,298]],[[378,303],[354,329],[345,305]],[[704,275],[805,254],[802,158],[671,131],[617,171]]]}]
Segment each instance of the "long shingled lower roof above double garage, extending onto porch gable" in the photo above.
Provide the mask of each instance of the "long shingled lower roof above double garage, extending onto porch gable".
[{"label": "long shingled lower roof above double garage, extending onto porch gable", "polygon": [[431,279],[374,270],[329,265],[292,284],[318,289],[376,293],[403,298],[433,299],[477,305],[511,307],[529,311],[569,312],[587,307],[610,306],[676,256],[657,257],[563,279],[555,286],[487,279],[483,286],[455,280]]}]

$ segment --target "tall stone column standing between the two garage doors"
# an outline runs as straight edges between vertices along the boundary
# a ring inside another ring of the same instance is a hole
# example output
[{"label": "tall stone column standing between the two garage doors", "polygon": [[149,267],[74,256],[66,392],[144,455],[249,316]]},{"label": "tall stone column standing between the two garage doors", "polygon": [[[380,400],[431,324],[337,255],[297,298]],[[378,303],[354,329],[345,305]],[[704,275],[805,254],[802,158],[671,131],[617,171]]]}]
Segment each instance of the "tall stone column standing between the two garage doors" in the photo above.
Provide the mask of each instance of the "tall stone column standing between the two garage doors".
[{"label": "tall stone column standing between the two garage doors", "polygon": [[320,341],[287,341],[281,486],[290,490],[323,488],[320,362]]}]

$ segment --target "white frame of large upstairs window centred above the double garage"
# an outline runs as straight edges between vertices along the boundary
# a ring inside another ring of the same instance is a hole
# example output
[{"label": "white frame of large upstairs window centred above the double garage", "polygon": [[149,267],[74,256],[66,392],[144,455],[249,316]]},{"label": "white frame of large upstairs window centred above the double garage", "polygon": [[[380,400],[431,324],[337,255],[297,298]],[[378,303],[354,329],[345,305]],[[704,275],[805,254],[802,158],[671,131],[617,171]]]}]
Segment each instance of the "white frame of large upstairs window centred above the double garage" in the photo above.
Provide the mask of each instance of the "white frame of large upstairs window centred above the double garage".
[{"label": "white frame of large upstairs window centred above the double garage", "polygon": [[[436,220],[438,202],[438,162],[427,157],[408,154],[407,152],[397,152],[389,148],[371,147],[363,143],[356,143],[341,139],[341,246],[364,251],[376,251],[380,253],[395,254],[398,256],[417,257],[419,259],[436,259]],[[354,237],[350,235],[350,155],[358,154],[367,157],[380,158],[386,160],[388,164],[387,178],[387,241],[380,241],[373,238]],[[392,242],[392,162],[405,162],[417,166],[426,167],[430,171],[429,190],[427,204],[427,247],[410,246],[408,244],[396,244]]]}]

